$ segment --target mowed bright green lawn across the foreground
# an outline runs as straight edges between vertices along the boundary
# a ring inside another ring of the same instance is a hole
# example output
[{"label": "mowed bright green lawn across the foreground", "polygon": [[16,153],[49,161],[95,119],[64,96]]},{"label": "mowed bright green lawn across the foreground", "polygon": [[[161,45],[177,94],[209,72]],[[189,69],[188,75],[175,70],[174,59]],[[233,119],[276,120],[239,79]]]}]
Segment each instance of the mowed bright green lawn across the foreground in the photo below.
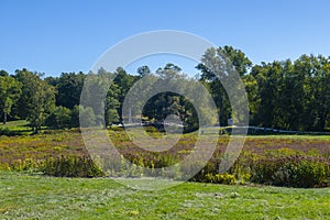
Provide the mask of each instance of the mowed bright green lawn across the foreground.
[{"label": "mowed bright green lawn across the foreground", "polygon": [[2,172],[0,219],[330,219],[330,188],[185,183],[143,191],[107,178]]}]

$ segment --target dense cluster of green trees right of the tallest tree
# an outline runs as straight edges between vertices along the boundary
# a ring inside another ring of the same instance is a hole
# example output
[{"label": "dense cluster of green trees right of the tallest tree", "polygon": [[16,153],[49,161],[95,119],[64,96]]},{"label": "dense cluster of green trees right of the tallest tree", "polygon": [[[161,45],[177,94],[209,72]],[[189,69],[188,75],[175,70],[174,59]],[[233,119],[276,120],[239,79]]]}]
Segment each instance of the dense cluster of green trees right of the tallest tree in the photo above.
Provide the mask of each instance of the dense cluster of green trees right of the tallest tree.
[{"label": "dense cluster of green trees right of the tallest tree", "polygon": [[245,77],[254,111],[252,124],[296,131],[324,130],[330,112],[329,67],[329,58],[314,55],[253,66]]}]

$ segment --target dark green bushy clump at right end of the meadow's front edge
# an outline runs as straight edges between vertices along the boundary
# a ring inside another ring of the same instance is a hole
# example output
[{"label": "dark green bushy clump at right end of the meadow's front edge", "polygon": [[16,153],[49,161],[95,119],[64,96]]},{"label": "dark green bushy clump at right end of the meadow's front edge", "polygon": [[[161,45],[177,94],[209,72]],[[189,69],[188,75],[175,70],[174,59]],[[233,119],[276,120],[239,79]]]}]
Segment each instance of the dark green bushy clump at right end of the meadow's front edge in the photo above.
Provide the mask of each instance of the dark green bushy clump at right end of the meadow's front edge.
[{"label": "dark green bushy clump at right end of the meadow's front edge", "polygon": [[307,156],[258,160],[252,165],[251,180],[286,187],[320,187],[329,184],[329,162]]}]

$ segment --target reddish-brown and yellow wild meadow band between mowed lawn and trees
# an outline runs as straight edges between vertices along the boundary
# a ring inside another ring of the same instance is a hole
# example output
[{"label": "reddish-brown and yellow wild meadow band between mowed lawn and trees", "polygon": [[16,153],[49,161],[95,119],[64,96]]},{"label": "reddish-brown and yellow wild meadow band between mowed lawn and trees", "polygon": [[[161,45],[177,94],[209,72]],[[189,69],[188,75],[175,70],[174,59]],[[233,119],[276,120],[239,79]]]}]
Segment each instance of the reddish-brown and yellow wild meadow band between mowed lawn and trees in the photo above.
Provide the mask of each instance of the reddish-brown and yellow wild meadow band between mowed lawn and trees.
[{"label": "reddish-brown and yellow wild meadow band between mowed lawn and trees", "polygon": [[[139,134],[134,134],[139,136]],[[152,133],[154,138],[163,134]],[[177,134],[173,134],[177,135]],[[209,135],[209,134],[204,134]],[[141,176],[140,169],[127,172],[122,160],[133,166],[152,168],[143,176],[160,175],[154,168],[179,163],[194,151],[197,133],[183,134],[178,143],[165,152],[150,152],[135,146],[122,130],[109,130],[109,136],[122,158],[111,162],[111,174]],[[228,174],[218,175],[228,135],[221,135],[208,164],[190,180],[216,184],[258,183],[293,187],[324,187],[330,180],[330,139],[328,136],[272,135],[249,136],[241,156]],[[151,150],[155,143],[148,143]],[[107,164],[101,165],[105,167]],[[191,164],[191,167],[195,166]],[[85,167],[85,168],[81,168]],[[179,179],[189,166],[179,166]],[[108,168],[108,167],[106,167]],[[91,163],[79,130],[44,130],[34,135],[0,136],[0,169],[34,170],[52,176],[96,177],[105,174]],[[108,174],[106,174],[108,175]],[[163,174],[162,174],[163,175]],[[167,177],[167,176],[164,176]]]}]

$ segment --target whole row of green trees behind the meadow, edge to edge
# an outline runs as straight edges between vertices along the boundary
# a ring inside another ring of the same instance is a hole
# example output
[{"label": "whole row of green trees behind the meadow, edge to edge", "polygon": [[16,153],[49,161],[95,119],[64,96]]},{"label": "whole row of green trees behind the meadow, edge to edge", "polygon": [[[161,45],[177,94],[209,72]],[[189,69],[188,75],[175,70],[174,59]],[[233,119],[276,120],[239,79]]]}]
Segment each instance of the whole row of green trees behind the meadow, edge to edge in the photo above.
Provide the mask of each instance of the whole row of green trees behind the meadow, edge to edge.
[{"label": "whole row of green trees behind the meadow, edge to edge", "polygon": [[[138,68],[138,76],[130,75],[122,67],[118,67],[114,73],[100,68],[98,73],[88,75],[81,72],[63,73],[59,77],[46,78],[43,78],[43,74],[25,68],[15,70],[14,75],[1,70],[0,113],[4,121],[7,117],[10,120],[28,119],[31,127],[37,131],[45,124],[45,119],[55,106],[70,109],[76,117],[75,108],[81,105],[92,108],[97,124],[111,127],[123,122],[122,107],[132,86],[136,86],[135,82],[141,81],[139,79],[147,80],[148,77],[152,81],[142,85],[141,96],[150,91],[152,86],[157,87],[169,80],[178,81],[182,86],[178,89],[184,90],[183,94],[194,94],[196,91],[190,89],[191,85],[201,82],[215,100],[219,120],[213,120],[205,109],[199,109],[201,116],[212,123],[220,121],[221,125],[227,125],[229,118],[234,121],[239,118],[232,112],[227,91],[230,87],[228,78],[232,76],[231,72],[227,72],[229,66],[237,69],[244,82],[249,98],[250,125],[292,131],[324,131],[329,128],[329,57],[304,54],[296,61],[252,64],[242,51],[232,46],[207,50],[196,67],[200,72],[200,77],[196,78],[187,77],[179,66],[172,63],[155,73],[146,65],[141,66]],[[215,69],[219,72],[221,81],[216,77]],[[87,76],[91,76],[90,81],[85,84]],[[81,100],[80,103],[82,88],[86,88],[86,100]],[[105,94],[106,97],[101,97]],[[206,99],[200,97],[200,92],[197,94],[196,102]],[[238,95],[231,101],[240,101],[240,97]],[[95,102],[97,105],[92,106]],[[136,103],[136,108],[143,108],[141,105]],[[185,131],[191,132],[199,127],[199,118],[194,107],[191,101],[179,94],[163,92],[148,99],[143,108],[143,117],[148,122],[161,123],[168,114],[175,113],[186,124]],[[134,118],[134,112],[132,113]],[[65,127],[78,127],[76,118],[70,125],[65,123]]]}]

